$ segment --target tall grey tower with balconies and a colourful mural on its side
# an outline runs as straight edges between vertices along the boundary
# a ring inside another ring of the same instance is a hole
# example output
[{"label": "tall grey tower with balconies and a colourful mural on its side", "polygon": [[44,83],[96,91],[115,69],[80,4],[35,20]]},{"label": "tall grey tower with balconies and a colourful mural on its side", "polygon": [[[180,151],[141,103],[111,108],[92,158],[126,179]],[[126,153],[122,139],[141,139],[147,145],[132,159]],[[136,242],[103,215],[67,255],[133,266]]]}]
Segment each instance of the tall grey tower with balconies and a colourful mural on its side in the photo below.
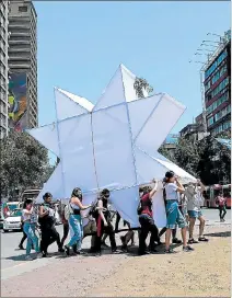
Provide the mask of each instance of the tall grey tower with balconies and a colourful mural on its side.
[{"label": "tall grey tower with balconies and a colourful mural on its side", "polygon": [[[31,0],[10,1],[9,8],[9,99],[21,101],[18,114],[9,113],[9,126],[19,130],[36,127],[37,108],[37,14]],[[12,89],[12,94],[11,94]],[[24,94],[25,93],[25,94]]]}]

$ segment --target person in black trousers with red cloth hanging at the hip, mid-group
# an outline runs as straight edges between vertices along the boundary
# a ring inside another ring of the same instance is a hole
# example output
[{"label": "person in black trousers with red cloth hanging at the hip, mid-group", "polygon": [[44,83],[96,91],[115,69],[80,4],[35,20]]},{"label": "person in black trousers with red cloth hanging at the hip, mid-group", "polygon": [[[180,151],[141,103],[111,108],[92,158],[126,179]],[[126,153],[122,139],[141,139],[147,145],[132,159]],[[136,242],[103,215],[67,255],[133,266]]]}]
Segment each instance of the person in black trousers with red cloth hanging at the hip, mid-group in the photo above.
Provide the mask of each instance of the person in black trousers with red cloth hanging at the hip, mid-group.
[{"label": "person in black trousers with red cloth hanging at the hip, mid-group", "polygon": [[114,228],[111,222],[111,213],[108,209],[109,191],[103,190],[96,205],[96,251],[101,253],[101,240],[105,233],[109,236],[111,248],[113,253],[117,253]]}]

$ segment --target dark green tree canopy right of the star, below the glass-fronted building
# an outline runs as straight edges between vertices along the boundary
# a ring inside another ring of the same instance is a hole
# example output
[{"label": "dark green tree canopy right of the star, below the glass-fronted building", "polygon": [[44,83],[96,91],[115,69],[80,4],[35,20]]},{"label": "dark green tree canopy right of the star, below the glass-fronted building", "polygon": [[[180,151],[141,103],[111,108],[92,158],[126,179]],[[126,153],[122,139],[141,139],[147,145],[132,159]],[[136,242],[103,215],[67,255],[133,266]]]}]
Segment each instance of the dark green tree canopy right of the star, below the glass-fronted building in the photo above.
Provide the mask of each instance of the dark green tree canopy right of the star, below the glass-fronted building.
[{"label": "dark green tree canopy right of the star, below the glass-fronted building", "polygon": [[160,152],[206,185],[231,183],[231,152],[212,136],[179,138],[172,154],[164,146]]}]

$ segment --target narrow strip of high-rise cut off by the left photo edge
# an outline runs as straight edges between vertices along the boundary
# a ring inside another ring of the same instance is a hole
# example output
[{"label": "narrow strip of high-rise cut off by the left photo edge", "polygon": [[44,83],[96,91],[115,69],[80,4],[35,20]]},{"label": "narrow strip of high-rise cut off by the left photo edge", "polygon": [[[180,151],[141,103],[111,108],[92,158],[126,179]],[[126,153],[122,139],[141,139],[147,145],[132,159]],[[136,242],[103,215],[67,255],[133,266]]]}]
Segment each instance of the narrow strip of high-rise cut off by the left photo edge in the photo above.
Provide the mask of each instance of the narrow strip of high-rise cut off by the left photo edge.
[{"label": "narrow strip of high-rise cut off by the left photo edge", "polygon": [[8,135],[8,9],[0,2],[0,139]]}]

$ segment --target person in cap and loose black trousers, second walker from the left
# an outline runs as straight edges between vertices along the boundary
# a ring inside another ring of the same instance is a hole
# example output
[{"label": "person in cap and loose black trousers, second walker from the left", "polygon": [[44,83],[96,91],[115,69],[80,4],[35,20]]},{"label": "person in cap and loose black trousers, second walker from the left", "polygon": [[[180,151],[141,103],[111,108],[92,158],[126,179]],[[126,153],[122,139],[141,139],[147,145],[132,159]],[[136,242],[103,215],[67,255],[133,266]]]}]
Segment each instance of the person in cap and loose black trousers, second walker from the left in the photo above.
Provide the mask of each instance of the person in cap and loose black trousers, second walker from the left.
[{"label": "person in cap and loose black trousers, second walker from the left", "polygon": [[55,241],[57,242],[59,252],[65,252],[65,250],[62,249],[59,233],[55,227],[55,209],[51,205],[53,195],[46,193],[43,196],[43,199],[44,204],[42,204],[38,209],[38,224],[40,225],[42,230],[40,251],[43,257],[46,257],[48,247]]}]

